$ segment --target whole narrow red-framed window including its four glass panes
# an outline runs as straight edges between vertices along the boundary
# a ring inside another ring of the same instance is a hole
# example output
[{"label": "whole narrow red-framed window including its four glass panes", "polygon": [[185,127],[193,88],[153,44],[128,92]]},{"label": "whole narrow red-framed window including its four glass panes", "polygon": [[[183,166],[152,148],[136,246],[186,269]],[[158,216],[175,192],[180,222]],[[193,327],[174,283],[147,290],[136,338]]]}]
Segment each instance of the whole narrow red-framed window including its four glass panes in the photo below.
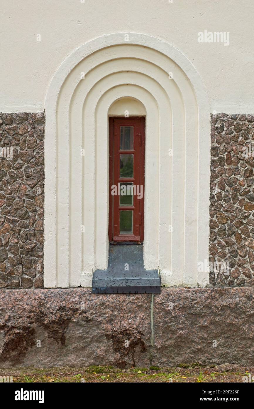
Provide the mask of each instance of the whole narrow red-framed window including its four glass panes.
[{"label": "whole narrow red-framed window including its four glass panes", "polygon": [[143,242],[145,118],[109,119],[110,242]]}]

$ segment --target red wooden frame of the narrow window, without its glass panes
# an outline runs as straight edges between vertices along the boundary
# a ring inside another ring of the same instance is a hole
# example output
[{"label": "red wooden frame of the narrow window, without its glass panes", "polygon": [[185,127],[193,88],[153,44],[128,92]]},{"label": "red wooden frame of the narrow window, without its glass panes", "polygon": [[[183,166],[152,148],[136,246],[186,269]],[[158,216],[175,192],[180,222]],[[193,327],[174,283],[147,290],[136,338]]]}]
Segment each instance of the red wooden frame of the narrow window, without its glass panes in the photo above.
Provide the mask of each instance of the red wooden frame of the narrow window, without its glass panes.
[{"label": "red wooden frame of the narrow window, without its glass panes", "polygon": [[[120,151],[120,127],[134,127],[133,150]],[[120,155],[133,154],[133,178],[120,179]],[[133,196],[133,206],[121,206],[120,196],[112,196],[112,185],[119,182],[133,182],[143,185],[143,198]],[[144,241],[144,187],[145,187],[145,118],[110,117],[109,118],[109,223],[110,242]],[[133,234],[120,234],[120,210],[133,210]]]}]

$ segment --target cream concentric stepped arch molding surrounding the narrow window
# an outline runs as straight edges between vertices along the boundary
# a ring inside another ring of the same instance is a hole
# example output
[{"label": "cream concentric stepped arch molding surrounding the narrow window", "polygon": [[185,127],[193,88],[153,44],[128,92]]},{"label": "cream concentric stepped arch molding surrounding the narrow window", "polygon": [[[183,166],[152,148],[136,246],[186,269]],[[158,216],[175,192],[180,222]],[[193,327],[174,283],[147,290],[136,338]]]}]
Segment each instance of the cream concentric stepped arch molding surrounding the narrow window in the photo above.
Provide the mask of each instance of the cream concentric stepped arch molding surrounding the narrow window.
[{"label": "cream concentric stepped arch molding surrounding the narrow window", "polygon": [[205,88],[174,46],[114,33],[78,47],[46,94],[45,287],[90,287],[93,271],[107,268],[108,112],[126,97],[146,109],[145,267],[159,268],[167,286],[208,283],[197,271],[209,245]]}]

